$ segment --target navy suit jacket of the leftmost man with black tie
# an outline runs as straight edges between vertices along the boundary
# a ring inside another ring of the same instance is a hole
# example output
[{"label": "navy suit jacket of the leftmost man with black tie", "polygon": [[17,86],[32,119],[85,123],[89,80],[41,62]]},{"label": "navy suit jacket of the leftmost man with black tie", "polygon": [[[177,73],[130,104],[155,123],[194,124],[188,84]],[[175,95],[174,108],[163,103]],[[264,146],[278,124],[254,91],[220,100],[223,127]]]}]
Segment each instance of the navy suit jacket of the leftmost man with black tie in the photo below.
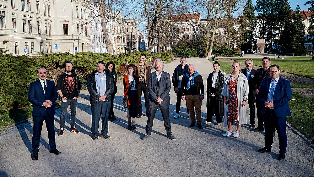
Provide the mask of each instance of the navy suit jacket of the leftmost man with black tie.
[{"label": "navy suit jacket of the leftmost man with black tie", "polygon": [[42,106],[42,104],[46,100],[50,100],[52,102],[52,106],[47,108],[49,115],[55,115],[55,108],[53,104],[56,102],[58,98],[57,88],[55,83],[51,80],[46,80],[47,93],[46,96],[44,94],[44,90],[41,86],[41,82],[38,80],[30,83],[30,89],[28,91],[28,101],[33,104],[33,113],[32,115],[35,117],[42,117],[45,114],[46,107]]}]

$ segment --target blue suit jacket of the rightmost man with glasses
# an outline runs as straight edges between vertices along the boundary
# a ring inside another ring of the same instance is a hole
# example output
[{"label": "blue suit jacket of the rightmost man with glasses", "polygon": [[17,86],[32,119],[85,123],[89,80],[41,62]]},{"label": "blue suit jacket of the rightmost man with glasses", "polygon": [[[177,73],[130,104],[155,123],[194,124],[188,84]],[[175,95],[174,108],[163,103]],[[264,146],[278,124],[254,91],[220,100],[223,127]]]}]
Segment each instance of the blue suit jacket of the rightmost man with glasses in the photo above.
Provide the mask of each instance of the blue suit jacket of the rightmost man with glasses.
[{"label": "blue suit jacket of the rightmost man with glasses", "polygon": [[[262,104],[262,114],[267,109],[264,103],[267,102],[268,90],[270,87],[271,78],[265,79],[259,89],[257,97]],[[279,78],[278,83],[274,90],[273,103],[274,111],[277,117],[286,117],[291,115],[288,102],[291,100],[291,86],[290,81],[283,78]]]}]

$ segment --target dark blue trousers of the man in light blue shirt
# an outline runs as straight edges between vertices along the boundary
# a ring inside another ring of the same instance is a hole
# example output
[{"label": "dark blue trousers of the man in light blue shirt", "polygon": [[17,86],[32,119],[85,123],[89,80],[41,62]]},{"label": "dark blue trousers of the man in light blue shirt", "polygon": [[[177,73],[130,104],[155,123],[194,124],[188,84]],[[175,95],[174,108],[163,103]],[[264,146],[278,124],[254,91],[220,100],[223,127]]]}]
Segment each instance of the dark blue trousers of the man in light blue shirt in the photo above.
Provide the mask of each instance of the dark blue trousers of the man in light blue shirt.
[{"label": "dark blue trousers of the man in light blue shirt", "polygon": [[101,116],[101,135],[108,133],[108,117],[110,112],[110,102],[99,101],[92,106],[92,134],[99,133],[99,119]]}]

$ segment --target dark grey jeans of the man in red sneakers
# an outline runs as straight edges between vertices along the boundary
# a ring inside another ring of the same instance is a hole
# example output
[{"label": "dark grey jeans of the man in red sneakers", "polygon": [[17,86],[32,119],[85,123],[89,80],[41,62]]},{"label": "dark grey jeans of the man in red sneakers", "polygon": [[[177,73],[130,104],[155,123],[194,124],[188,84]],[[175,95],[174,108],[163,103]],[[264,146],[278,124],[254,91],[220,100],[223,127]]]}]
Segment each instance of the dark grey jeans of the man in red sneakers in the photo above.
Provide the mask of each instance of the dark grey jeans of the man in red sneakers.
[{"label": "dark grey jeans of the man in red sneakers", "polygon": [[75,125],[77,103],[77,100],[74,99],[67,99],[67,102],[62,102],[61,100],[60,128],[64,128],[65,116],[67,114],[67,109],[69,105],[71,110],[71,128],[73,128],[73,126]]}]

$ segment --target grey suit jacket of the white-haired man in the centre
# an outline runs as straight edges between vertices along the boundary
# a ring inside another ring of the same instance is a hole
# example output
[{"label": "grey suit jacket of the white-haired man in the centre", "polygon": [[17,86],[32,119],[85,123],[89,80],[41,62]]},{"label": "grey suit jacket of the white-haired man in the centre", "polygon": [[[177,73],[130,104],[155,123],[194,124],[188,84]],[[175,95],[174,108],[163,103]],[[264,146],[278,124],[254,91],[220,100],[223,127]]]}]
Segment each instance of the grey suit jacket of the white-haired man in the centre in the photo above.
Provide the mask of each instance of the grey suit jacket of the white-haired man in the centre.
[{"label": "grey suit jacket of the white-haired man in the centre", "polygon": [[169,73],[162,71],[160,77],[160,86],[157,86],[157,75],[156,72],[152,72],[148,75],[148,84],[147,90],[149,93],[148,104],[154,106],[158,104],[155,100],[160,97],[163,101],[160,106],[169,106],[170,105],[170,96],[169,91],[171,88],[171,79]]}]

